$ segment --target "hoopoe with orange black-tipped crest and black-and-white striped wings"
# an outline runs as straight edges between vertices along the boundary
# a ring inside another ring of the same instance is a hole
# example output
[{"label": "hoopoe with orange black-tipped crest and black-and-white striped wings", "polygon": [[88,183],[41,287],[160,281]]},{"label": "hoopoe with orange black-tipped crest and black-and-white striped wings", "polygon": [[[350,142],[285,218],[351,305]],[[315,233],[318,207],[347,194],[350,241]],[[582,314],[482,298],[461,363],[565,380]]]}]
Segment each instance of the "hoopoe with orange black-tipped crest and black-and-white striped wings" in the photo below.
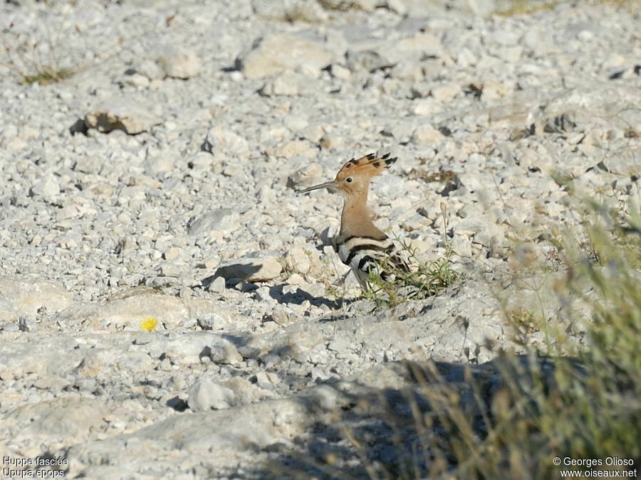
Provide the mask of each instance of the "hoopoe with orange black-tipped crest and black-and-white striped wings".
[{"label": "hoopoe with orange black-tipped crest and black-and-white striped wings", "polygon": [[335,188],[343,194],[340,231],[333,246],[340,260],[350,266],[363,289],[370,288],[368,279],[372,272],[387,281],[392,279],[395,272],[410,270],[392,239],[372,223],[372,210],[368,206],[370,180],[389,169],[397,158],[390,158],[390,154],[369,154],[360,159],[351,159],[341,167],[334,181],[298,192]]}]

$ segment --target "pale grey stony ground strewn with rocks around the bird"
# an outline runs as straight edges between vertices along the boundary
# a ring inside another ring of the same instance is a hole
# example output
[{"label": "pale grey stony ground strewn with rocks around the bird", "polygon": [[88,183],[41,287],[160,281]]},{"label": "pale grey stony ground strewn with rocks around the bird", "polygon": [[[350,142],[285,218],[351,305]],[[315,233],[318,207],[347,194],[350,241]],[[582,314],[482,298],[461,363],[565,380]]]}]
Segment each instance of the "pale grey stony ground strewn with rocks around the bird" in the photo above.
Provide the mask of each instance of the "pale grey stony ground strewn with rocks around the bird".
[{"label": "pale grey stony ground strewn with rocks around the bird", "polygon": [[[364,475],[345,430],[393,463],[358,399],[410,387],[402,360],[486,368],[504,312],[541,310],[514,270],[580,198],[638,206],[641,18],[619,3],[1,4],[3,468]],[[21,84],[47,65],[74,75]],[[399,157],[377,225],[425,260],[452,245],[463,279],[436,297],[358,299],[340,198],[296,194],[371,151]]]}]

